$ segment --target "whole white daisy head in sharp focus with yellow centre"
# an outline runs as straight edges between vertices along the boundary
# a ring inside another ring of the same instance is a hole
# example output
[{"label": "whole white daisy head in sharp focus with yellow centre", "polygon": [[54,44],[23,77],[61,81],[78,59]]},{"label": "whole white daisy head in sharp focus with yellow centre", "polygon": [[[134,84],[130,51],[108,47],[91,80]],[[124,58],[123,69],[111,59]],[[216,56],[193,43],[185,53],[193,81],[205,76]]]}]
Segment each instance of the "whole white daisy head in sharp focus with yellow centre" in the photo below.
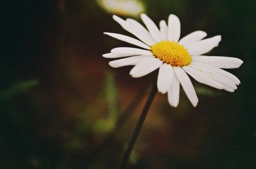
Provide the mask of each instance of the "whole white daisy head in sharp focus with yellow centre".
[{"label": "whole white daisy head in sharp focus with yellow centre", "polygon": [[181,85],[193,106],[197,106],[198,97],[188,75],[205,85],[228,92],[234,92],[240,84],[236,76],[223,69],[238,68],[242,60],[202,55],[218,46],[220,35],[203,39],[207,34],[195,31],[180,39],[180,20],[173,14],[169,15],[168,24],[160,21],[160,30],[145,14],[141,14],[141,19],[147,29],[134,19],[123,20],[115,15],[113,19],[139,40],[121,34],[104,34],[140,48],[117,47],[103,57],[126,57],[111,61],[109,65],[114,68],[135,65],[130,71],[132,77],[141,77],[159,68],[157,88],[160,93],[167,93],[170,105],[178,106]]}]

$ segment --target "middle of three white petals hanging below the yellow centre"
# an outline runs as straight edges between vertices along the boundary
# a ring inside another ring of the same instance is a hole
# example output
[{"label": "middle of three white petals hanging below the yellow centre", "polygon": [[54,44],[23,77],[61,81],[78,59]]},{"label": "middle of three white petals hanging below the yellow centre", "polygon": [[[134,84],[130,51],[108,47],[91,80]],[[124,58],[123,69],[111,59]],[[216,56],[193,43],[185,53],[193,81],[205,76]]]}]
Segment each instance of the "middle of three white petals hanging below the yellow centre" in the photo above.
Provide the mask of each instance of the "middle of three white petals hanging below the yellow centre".
[{"label": "middle of three white petals hanging below the yellow centre", "polygon": [[177,107],[180,99],[180,81],[174,74],[172,85],[168,90],[168,102],[171,106]]}]

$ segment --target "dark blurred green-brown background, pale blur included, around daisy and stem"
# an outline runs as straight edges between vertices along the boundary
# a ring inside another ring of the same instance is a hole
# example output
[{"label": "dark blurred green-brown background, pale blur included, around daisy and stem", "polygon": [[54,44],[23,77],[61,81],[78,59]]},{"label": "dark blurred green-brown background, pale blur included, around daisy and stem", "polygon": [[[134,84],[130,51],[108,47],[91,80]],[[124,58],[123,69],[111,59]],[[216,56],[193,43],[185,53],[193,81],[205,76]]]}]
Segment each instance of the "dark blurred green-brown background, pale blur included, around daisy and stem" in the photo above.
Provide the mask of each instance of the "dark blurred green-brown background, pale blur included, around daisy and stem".
[{"label": "dark blurred green-brown background, pale blur included, around daisy and stem", "polygon": [[181,37],[222,35],[208,55],[244,61],[228,70],[234,93],[195,80],[194,108],[157,94],[128,168],[256,168],[255,1],[2,1],[0,168],[116,168],[157,72],[129,75],[102,54],[132,46],[112,19],[145,12],[155,23],[176,14]]}]

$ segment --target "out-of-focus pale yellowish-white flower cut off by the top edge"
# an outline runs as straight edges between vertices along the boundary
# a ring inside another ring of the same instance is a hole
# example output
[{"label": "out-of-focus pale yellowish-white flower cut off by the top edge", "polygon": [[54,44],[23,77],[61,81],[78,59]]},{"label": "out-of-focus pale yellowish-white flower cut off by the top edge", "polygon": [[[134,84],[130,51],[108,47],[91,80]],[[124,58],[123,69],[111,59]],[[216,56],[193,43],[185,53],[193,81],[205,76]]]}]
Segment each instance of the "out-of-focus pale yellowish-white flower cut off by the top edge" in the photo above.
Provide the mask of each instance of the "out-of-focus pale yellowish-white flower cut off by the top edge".
[{"label": "out-of-focus pale yellowish-white flower cut off by the top edge", "polygon": [[138,16],[145,10],[137,0],[98,0],[98,3],[106,11],[118,15]]}]

